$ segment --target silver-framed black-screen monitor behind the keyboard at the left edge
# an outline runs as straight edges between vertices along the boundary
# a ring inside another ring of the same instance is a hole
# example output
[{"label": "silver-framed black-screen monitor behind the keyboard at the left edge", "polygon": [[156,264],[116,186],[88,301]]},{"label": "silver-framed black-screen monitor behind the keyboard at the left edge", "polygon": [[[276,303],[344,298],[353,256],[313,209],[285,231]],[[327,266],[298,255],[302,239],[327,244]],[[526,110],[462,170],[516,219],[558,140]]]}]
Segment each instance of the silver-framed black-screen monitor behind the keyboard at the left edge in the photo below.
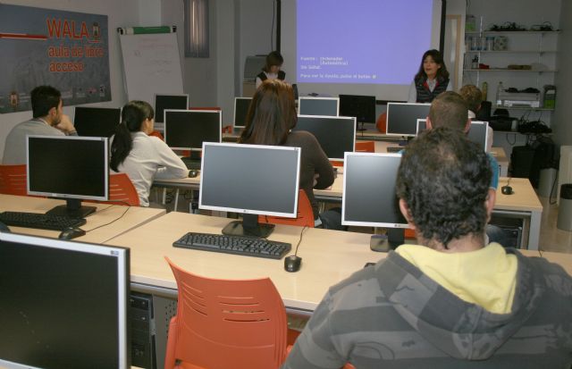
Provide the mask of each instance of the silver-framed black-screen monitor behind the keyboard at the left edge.
[{"label": "silver-framed black-screen monitor behind the keyboard at the left edge", "polygon": [[108,138],[28,136],[29,195],[63,197],[66,205],[46,214],[83,218],[96,211],[81,200],[109,197]]}]

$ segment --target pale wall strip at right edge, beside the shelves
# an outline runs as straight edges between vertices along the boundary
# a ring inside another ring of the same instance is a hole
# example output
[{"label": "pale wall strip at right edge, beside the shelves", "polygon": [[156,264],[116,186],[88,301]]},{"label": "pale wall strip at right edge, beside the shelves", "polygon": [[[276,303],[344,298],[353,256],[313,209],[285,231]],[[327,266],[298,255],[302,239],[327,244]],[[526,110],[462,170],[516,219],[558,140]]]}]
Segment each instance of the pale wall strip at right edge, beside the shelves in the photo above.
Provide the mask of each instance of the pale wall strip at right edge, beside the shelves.
[{"label": "pale wall strip at right edge, beside the shelves", "polygon": [[552,138],[557,145],[572,145],[572,2],[563,1],[560,13],[556,110]]}]

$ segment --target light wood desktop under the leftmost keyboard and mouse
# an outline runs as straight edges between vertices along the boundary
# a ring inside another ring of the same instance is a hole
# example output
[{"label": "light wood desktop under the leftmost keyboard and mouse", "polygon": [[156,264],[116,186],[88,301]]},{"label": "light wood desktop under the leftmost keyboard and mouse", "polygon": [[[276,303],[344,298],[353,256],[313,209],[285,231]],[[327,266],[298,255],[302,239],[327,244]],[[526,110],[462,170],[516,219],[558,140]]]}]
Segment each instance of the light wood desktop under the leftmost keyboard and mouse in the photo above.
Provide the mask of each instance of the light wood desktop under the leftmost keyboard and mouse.
[{"label": "light wood desktop under the leftmost keyboard and mouse", "polygon": [[[0,212],[12,211],[43,214],[56,205],[63,204],[65,204],[65,201],[51,198],[0,194]],[[139,206],[132,206],[127,210],[128,207],[122,205],[93,203],[88,203],[88,205],[95,205],[97,207],[97,211],[94,214],[88,215],[86,217],[87,223],[80,227],[82,230],[87,231],[87,233],[76,240],[83,242],[104,243],[105,241],[113,239],[115,236],[139,227],[139,225],[152,221],[166,213],[164,209],[152,209]],[[123,215],[118,221],[113,222],[115,219],[118,219],[125,210],[127,210],[127,213],[125,213],[125,215]],[[113,223],[103,226],[108,222]],[[96,230],[99,226],[102,227]],[[50,238],[57,238],[60,234],[60,231],[47,231],[13,226],[10,226],[10,230],[16,233]]]}]

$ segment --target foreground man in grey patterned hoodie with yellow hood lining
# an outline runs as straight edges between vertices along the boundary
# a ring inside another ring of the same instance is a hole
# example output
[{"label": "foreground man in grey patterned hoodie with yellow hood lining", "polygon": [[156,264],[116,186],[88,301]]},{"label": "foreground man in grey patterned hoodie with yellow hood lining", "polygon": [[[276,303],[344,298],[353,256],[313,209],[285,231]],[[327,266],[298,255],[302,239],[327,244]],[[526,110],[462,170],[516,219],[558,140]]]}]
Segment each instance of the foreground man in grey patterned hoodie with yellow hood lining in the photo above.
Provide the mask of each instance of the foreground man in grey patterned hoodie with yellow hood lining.
[{"label": "foreground man in grey patterned hoodie with yellow hood lining", "polygon": [[459,130],[413,140],[396,188],[417,245],[330,288],[282,368],[568,369],[572,278],[543,258],[484,244],[491,174]]}]

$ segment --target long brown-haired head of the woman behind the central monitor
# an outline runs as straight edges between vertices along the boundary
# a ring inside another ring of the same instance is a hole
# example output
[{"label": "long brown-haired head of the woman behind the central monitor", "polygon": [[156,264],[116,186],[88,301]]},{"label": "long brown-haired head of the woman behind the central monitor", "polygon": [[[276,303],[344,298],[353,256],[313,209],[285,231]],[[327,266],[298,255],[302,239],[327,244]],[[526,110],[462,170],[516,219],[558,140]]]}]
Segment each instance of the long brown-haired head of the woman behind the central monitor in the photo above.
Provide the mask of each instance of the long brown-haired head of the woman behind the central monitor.
[{"label": "long brown-haired head of the woman behind the central monitor", "polygon": [[240,142],[255,145],[282,145],[296,125],[294,91],[282,80],[265,80],[257,88],[248,107]]}]

